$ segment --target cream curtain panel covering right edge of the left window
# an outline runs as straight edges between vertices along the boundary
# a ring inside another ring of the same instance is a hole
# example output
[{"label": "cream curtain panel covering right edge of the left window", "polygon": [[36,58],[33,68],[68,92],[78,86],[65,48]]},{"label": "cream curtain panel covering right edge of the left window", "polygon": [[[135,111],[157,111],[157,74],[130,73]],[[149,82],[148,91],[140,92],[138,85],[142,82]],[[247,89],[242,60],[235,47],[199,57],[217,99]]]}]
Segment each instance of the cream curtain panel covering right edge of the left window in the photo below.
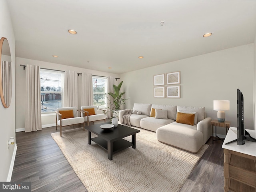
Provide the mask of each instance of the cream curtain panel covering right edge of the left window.
[{"label": "cream curtain panel covering right edge of the left window", "polygon": [[77,107],[77,72],[65,71],[63,107]]}]

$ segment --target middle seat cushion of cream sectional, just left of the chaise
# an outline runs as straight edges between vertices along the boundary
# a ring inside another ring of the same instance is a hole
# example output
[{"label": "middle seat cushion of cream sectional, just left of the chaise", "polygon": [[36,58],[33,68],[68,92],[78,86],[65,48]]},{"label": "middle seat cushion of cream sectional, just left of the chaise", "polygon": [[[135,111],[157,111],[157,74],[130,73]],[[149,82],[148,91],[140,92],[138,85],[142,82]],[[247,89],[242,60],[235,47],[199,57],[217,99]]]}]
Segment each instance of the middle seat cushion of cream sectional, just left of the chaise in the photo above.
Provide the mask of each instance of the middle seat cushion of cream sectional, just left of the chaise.
[{"label": "middle seat cushion of cream sectional, just left of the chaise", "polygon": [[156,119],[154,117],[146,117],[140,120],[140,127],[156,132],[159,127],[170,124],[172,122],[174,122],[172,119]]}]

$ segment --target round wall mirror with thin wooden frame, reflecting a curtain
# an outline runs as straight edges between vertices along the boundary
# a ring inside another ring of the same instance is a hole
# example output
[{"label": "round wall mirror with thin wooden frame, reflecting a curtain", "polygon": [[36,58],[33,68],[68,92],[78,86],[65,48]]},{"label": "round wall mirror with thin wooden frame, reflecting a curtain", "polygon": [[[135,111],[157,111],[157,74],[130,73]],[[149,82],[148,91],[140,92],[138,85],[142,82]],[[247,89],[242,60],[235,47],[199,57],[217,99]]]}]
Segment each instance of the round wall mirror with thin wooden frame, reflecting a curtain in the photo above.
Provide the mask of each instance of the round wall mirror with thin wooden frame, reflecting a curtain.
[{"label": "round wall mirror with thin wooden frame, reflecting a curtain", "polygon": [[8,40],[0,39],[0,97],[2,104],[8,108],[12,99],[12,60]]}]

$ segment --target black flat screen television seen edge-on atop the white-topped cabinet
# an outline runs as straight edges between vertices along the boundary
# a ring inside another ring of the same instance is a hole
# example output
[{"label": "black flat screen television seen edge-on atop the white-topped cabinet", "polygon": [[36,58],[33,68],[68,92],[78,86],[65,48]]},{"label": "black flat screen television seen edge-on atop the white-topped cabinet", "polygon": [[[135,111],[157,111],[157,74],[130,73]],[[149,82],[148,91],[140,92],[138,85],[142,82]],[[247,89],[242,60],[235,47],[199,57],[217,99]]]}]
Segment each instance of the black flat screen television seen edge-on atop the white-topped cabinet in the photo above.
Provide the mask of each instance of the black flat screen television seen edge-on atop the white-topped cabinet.
[{"label": "black flat screen television seen edge-on atop the white-topped cabinet", "polygon": [[250,136],[250,133],[244,128],[244,96],[237,89],[237,139],[226,144],[237,141],[238,145],[244,145],[246,140],[256,142],[256,139]]}]

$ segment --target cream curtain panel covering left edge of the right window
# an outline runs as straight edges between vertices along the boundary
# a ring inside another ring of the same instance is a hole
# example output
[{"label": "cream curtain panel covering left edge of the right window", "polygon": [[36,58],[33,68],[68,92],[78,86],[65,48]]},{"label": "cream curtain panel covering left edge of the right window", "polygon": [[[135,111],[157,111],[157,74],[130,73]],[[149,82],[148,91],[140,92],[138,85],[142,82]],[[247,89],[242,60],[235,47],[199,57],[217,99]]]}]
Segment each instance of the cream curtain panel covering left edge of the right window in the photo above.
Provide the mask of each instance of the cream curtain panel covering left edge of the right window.
[{"label": "cream curtain panel covering left edge of the right window", "polygon": [[81,106],[93,105],[92,74],[82,73]]}]

